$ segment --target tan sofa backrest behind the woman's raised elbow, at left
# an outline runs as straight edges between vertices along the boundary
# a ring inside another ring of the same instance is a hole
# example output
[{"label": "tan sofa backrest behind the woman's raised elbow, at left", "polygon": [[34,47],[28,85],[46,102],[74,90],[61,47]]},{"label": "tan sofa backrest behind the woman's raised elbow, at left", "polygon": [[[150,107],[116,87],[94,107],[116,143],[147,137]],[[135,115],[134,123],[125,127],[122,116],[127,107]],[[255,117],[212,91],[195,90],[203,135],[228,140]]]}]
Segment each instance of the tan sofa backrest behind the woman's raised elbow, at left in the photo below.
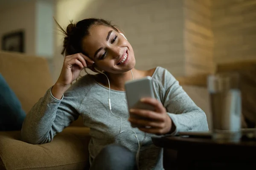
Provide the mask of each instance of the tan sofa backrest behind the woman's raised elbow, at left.
[{"label": "tan sofa backrest behind the woman's raised elbow, at left", "polygon": [[0,73],[27,113],[53,85],[45,58],[0,52]]}]

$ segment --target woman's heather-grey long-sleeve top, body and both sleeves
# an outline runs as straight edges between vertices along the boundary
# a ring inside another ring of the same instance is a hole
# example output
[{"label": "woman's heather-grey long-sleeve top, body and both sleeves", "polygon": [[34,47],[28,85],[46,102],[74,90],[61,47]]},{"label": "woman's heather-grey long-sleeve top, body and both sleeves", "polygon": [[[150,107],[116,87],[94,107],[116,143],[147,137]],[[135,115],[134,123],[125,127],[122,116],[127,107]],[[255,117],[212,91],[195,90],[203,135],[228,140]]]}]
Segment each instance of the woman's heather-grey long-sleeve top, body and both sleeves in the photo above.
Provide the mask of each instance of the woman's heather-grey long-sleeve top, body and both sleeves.
[{"label": "woman's heather-grey long-sleeve top, body and both sleeves", "polygon": [[[176,130],[206,131],[207,119],[204,111],[198,108],[183,91],[178,81],[164,68],[157,67],[152,75],[155,98],[161,101],[171,117]],[[59,100],[51,94],[51,88],[39,99],[27,114],[21,130],[22,139],[32,144],[52,141],[70,123],[82,116],[84,125],[90,127],[89,143],[90,162],[99,151],[108,144],[118,143],[136,154],[138,142],[128,122],[128,105],[124,91],[110,91],[112,112],[108,105],[109,89],[86,75],[73,84]],[[154,146],[152,134],[135,128],[138,139],[143,142],[140,148],[140,170],[163,169],[162,149]],[[144,139],[145,137],[145,139]],[[144,140],[143,140],[144,139]]]}]

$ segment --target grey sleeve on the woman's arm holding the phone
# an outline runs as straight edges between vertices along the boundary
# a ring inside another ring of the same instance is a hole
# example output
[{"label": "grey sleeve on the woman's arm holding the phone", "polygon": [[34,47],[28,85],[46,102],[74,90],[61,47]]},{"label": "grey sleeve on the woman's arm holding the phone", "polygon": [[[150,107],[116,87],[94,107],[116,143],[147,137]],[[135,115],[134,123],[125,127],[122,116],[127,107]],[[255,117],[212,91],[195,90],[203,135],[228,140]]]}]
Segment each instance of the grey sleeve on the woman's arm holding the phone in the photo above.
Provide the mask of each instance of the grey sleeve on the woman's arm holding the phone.
[{"label": "grey sleeve on the woman's arm holding the phone", "polygon": [[165,79],[163,105],[175,126],[171,135],[181,131],[208,131],[204,111],[195,105],[169,71],[165,70],[163,77]]}]

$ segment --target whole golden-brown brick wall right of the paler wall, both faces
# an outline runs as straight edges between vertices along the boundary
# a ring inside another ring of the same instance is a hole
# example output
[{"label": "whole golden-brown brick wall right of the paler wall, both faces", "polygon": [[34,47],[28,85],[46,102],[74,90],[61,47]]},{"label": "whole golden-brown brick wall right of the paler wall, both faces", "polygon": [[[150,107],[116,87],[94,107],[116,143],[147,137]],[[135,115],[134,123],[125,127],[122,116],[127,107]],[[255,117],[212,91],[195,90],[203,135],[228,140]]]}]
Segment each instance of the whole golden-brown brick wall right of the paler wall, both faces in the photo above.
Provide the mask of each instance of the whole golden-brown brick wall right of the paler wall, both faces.
[{"label": "whole golden-brown brick wall right of the paler wall, both faces", "polygon": [[256,0],[184,0],[185,74],[256,57]]}]

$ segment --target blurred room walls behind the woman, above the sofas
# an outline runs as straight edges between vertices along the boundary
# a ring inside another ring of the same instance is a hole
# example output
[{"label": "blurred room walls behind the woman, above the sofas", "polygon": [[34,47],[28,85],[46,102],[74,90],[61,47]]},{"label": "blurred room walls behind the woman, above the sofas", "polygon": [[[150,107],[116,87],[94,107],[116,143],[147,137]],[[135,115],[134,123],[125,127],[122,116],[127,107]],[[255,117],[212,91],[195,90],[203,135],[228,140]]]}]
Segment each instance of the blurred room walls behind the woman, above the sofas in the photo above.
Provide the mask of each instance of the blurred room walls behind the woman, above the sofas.
[{"label": "blurred room walls behind the woman, above the sofas", "polygon": [[53,81],[64,38],[53,17],[64,28],[70,20],[110,20],[133,46],[137,68],[162,66],[175,77],[256,57],[256,0],[0,0],[2,50],[22,41],[16,51],[47,58]]}]

